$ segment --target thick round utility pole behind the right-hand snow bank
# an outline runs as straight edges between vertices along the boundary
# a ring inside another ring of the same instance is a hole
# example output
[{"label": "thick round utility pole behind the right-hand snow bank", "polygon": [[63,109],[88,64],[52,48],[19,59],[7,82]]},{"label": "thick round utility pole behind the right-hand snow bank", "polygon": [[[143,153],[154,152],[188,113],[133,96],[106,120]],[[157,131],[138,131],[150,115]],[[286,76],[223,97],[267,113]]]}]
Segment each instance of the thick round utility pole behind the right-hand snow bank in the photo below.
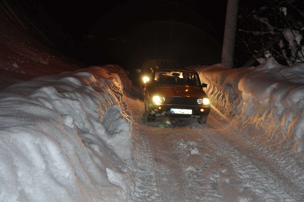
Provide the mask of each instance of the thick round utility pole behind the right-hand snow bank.
[{"label": "thick round utility pole behind the right-hand snow bank", "polygon": [[225,31],[224,31],[223,51],[222,51],[222,64],[229,69],[232,69],[233,67],[238,6],[239,6],[239,0],[227,1]]}]

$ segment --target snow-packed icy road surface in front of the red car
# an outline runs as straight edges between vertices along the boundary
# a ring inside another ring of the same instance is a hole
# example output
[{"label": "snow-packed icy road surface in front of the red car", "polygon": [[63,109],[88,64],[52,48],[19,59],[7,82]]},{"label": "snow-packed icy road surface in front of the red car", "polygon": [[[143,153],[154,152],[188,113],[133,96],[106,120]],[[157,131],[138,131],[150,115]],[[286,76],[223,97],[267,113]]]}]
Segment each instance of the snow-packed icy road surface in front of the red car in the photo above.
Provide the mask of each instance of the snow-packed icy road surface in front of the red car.
[{"label": "snow-packed icy road surface in front of the red car", "polygon": [[302,187],[258,150],[231,138],[237,129],[215,110],[206,124],[169,117],[148,122],[143,101],[126,102],[138,201],[304,201]]}]

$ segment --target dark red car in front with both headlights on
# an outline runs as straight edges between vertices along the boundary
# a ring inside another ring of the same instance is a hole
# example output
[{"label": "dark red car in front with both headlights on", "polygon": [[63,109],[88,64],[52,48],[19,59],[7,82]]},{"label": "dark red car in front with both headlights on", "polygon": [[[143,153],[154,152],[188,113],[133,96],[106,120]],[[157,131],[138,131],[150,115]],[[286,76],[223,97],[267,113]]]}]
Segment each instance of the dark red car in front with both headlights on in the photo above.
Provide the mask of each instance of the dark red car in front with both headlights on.
[{"label": "dark red car in front with both headlights on", "polygon": [[152,68],[144,86],[144,105],[148,121],[157,116],[195,117],[205,124],[210,100],[196,71],[188,68]]}]

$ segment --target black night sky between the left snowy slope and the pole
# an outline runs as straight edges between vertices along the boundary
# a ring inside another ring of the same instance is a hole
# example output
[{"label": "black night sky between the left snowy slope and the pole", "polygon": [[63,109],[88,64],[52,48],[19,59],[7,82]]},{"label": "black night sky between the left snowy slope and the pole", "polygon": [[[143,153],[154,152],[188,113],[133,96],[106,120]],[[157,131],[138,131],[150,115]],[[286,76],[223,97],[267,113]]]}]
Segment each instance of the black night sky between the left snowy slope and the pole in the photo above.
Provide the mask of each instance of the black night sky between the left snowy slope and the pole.
[{"label": "black night sky between the left snowy slope and the pole", "polygon": [[[21,2],[60,47],[90,65],[140,65],[171,55],[182,65],[220,62],[227,0],[28,0]],[[136,67],[135,67],[136,68]]]}]

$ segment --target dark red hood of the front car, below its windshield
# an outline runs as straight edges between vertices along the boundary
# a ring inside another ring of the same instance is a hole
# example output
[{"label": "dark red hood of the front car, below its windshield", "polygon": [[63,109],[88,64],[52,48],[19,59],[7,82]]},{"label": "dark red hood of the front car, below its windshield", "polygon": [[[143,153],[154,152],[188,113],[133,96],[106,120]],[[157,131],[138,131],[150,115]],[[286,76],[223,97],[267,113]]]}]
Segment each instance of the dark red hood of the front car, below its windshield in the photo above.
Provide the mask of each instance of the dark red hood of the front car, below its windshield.
[{"label": "dark red hood of the front car, below its windshield", "polygon": [[154,86],[151,89],[153,94],[162,96],[183,96],[183,97],[208,97],[202,87],[192,86]]}]

